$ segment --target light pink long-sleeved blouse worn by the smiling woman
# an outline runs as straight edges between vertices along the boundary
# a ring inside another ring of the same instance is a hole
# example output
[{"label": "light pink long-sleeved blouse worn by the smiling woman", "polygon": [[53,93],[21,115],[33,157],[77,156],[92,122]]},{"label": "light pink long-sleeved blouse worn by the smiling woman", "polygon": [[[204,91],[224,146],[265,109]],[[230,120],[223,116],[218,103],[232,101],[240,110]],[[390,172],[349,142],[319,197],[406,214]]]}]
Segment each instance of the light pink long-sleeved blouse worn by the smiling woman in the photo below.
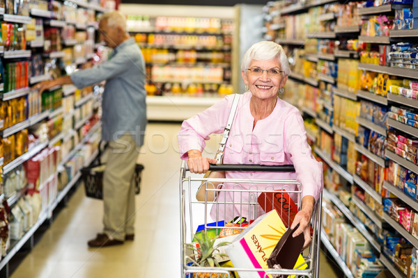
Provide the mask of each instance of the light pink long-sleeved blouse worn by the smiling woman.
[{"label": "light pink long-sleeved blouse worn by the smiling woman", "polygon": [[[251,92],[245,92],[238,103],[235,119],[226,141],[223,163],[293,164],[296,172],[226,172],[226,178],[247,179],[249,182],[251,179],[296,179],[302,183],[302,198],[311,195],[318,199],[323,189],[323,169],[312,156],[299,111],[286,101],[277,98],[274,111],[265,119],[258,120],[253,129],[254,117],[249,110],[251,97]],[[203,151],[206,145],[205,140],[209,139],[210,134],[224,132],[232,101],[233,95],[226,96],[206,111],[183,122],[178,133],[180,156],[183,160],[187,160],[187,152],[190,149]],[[243,183],[240,186],[248,190],[251,186],[254,187],[254,183]],[[273,186],[274,189],[284,188],[280,184]],[[236,188],[236,185],[225,183],[223,188]],[[295,186],[290,186],[289,189],[294,188]],[[239,215],[246,217],[247,220],[255,219],[264,213],[260,206],[254,208],[248,205],[249,200],[257,202],[256,197],[248,193],[241,195],[221,192],[217,197],[217,204],[212,206],[210,215],[215,221],[225,220],[226,222]],[[294,196],[291,197],[294,199]],[[225,201],[233,202],[234,205],[224,204]],[[240,205],[245,202],[247,205]]]}]

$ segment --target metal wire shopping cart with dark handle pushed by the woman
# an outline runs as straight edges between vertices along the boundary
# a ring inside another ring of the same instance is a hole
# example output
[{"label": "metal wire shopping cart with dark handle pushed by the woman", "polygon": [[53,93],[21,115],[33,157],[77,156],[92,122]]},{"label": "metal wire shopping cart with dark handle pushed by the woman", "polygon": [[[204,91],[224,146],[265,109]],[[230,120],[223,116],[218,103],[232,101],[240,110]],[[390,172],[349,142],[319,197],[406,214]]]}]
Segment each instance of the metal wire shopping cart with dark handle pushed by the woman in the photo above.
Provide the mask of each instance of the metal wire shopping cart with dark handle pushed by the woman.
[{"label": "metal wire shopping cart with dark handle pushed by the woman", "polygon": [[[265,165],[210,165],[210,170],[217,171],[263,171],[263,172],[295,172],[293,165],[282,166],[265,166]],[[245,211],[246,217],[256,219],[260,216],[257,197],[261,193],[277,193],[273,190],[272,185],[282,185],[282,190],[288,193],[297,208],[300,209],[302,184],[295,180],[274,180],[274,179],[205,179],[188,173],[188,167],[183,161],[180,169],[180,224],[181,224],[181,264],[183,278],[198,277],[197,274],[210,273],[205,277],[228,277],[231,278],[231,273],[238,272],[238,274],[251,275],[251,277],[318,277],[319,273],[319,250],[320,250],[320,222],[321,222],[321,203],[322,194],[316,202],[314,213],[311,219],[311,226],[313,228],[312,241],[309,249],[304,250],[303,258],[306,261],[306,268],[304,269],[274,269],[274,268],[233,268],[233,267],[201,267],[195,266],[189,256],[188,243],[192,242],[194,238],[194,231],[196,231],[196,223],[204,224],[205,232],[208,229],[231,229],[226,224],[219,224],[219,219],[222,218],[222,213],[215,213],[216,220],[212,221],[208,215],[210,207],[212,206],[238,206],[241,208],[241,215]],[[194,195],[196,194],[196,187],[201,183],[205,186],[205,201],[199,202]],[[214,188],[213,183],[220,183]],[[229,184],[229,186],[222,186]],[[232,185],[232,186],[231,186]],[[245,185],[245,186],[244,186]],[[214,202],[208,202],[208,192],[216,191],[218,194],[233,194],[232,199],[217,198]],[[236,197],[238,195],[238,197]],[[222,199],[219,201],[218,199]],[[243,201],[245,200],[245,201]],[[245,209],[242,209],[245,208]],[[215,210],[216,211],[216,210]],[[265,211],[265,209],[264,209]],[[225,214],[225,213],[224,213]],[[212,215],[213,216],[213,215]],[[282,218],[285,222],[286,220]],[[215,224],[211,223],[214,222]],[[208,223],[211,223],[210,226]],[[233,229],[245,229],[244,226],[233,227]],[[253,273],[249,273],[253,272]],[[257,273],[258,272],[258,273]],[[263,275],[260,276],[260,273]],[[212,276],[212,274],[214,276]],[[292,276],[288,276],[292,275]]]}]

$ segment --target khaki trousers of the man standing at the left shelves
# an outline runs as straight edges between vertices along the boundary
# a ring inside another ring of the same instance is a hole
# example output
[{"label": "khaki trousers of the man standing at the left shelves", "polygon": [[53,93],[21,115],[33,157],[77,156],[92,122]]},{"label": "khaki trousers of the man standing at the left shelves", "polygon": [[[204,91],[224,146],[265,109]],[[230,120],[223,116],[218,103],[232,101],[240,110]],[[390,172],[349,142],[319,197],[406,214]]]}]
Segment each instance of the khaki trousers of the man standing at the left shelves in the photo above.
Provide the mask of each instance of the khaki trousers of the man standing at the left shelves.
[{"label": "khaki trousers of the man standing at the left shelves", "polygon": [[116,240],[134,234],[134,171],[138,152],[134,136],[110,141],[103,176],[104,233]]}]

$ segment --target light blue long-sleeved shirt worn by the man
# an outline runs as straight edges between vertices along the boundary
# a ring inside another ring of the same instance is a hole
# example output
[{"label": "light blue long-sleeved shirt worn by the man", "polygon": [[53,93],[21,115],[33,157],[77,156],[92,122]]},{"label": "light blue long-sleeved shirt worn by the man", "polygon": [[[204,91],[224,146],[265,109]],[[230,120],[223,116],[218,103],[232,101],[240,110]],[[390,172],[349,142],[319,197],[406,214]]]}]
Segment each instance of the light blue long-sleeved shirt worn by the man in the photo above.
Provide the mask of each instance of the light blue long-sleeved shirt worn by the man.
[{"label": "light blue long-sleeved shirt worn by the man", "polygon": [[134,38],[114,49],[111,58],[70,78],[77,88],[106,81],[102,101],[102,140],[116,140],[130,133],[144,144],[146,127],[145,62]]}]

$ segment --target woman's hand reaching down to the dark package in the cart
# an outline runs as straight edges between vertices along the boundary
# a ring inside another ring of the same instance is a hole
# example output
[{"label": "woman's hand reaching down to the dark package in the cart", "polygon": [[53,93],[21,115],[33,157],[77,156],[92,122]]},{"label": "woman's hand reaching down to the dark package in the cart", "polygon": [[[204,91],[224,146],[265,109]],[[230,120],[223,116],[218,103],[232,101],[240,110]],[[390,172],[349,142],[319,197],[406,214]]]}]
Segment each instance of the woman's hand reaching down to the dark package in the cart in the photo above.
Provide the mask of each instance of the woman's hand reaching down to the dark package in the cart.
[{"label": "woman's hand reaching down to the dark package in the cart", "polygon": [[291,229],[295,229],[296,225],[299,224],[299,228],[293,233],[293,237],[304,234],[304,245],[303,249],[311,244],[311,229],[310,223],[312,213],[314,212],[315,198],[313,196],[305,196],[302,199],[302,208],[295,215]]}]

